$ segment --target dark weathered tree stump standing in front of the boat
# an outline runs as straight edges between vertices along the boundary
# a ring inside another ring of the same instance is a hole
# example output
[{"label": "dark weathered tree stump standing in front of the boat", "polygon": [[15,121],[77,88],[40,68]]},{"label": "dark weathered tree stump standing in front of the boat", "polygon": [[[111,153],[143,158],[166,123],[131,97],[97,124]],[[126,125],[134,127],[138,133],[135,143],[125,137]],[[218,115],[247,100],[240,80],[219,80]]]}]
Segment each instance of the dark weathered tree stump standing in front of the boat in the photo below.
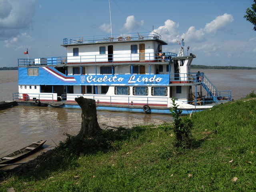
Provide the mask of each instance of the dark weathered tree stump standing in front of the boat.
[{"label": "dark weathered tree stump standing in front of the boat", "polygon": [[102,130],[98,124],[96,103],[94,99],[75,98],[82,109],[82,123],[78,137],[93,137]]}]

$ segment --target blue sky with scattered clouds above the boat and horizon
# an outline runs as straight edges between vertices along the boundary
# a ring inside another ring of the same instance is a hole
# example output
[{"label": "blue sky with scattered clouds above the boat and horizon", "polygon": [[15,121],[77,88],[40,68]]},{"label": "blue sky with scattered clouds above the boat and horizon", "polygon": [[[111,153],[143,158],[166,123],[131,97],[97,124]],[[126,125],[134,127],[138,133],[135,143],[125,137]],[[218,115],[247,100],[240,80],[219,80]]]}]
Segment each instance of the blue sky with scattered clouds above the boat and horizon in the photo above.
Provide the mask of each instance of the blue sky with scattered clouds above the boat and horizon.
[{"label": "blue sky with scattered clouds above the boat and horizon", "polygon": [[[110,0],[113,34],[154,28],[192,64],[256,66],[256,31],[244,18],[253,0]],[[63,38],[111,34],[108,0],[0,0],[0,67],[18,58],[65,56]]]}]

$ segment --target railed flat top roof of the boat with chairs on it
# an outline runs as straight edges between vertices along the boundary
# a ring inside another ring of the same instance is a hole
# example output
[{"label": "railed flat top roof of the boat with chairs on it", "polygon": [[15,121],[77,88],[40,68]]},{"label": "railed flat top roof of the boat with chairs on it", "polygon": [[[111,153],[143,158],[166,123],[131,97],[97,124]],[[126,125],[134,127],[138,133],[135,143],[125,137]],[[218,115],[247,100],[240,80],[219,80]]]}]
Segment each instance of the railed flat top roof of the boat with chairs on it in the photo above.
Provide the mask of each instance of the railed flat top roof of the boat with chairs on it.
[{"label": "railed flat top roof of the boat with chairs on it", "polygon": [[113,34],[105,36],[82,36],[73,38],[64,38],[61,46],[77,46],[88,44],[109,44],[109,43],[123,43],[123,42],[146,42],[157,41],[162,45],[167,45],[166,42],[161,40],[161,36],[156,32],[150,33],[130,33],[130,34]]}]

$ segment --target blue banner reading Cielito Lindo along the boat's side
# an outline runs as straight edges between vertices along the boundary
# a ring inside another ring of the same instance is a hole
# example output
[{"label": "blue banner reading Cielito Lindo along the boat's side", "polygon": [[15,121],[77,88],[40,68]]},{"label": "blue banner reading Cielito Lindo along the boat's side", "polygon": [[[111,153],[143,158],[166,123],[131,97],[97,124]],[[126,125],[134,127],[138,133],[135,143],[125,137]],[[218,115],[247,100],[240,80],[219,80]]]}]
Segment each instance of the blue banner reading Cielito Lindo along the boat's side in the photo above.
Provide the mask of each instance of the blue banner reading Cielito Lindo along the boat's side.
[{"label": "blue banner reading Cielito Lindo along the boat's side", "polygon": [[53,67],[19,68],[19,84],[168,85],[169,74],[64,75]]}]

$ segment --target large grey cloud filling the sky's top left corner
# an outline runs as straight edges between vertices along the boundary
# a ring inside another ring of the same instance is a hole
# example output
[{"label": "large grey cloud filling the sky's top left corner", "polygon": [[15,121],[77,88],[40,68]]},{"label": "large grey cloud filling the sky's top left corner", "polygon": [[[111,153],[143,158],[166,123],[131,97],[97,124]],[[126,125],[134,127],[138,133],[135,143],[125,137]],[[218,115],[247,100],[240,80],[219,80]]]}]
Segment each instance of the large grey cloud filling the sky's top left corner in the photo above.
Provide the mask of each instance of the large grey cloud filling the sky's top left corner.
[{"label": "large grey cloud filling the sky's top left corner", "polygon": [[6,40],[30,28],[37,0],[0,0],[0,39]]}]

